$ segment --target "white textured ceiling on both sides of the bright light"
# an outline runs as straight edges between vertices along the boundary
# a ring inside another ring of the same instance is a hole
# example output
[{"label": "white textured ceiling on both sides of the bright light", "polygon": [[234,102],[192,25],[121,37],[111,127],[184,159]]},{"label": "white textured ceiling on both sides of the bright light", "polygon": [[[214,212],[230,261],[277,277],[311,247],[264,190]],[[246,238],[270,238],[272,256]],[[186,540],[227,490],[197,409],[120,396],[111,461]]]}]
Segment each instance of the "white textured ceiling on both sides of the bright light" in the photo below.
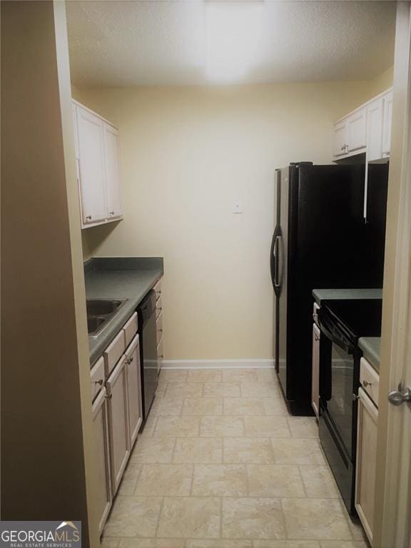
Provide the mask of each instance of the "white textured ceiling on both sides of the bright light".
[{"label": "white textured ceiling on both sides of the bright light", "polygon": [[[203,0],[70,0],[78,87],[201,85]],[[367,80],[392,65],[395,2],[265,0],[255,64],[240,83]]]}]

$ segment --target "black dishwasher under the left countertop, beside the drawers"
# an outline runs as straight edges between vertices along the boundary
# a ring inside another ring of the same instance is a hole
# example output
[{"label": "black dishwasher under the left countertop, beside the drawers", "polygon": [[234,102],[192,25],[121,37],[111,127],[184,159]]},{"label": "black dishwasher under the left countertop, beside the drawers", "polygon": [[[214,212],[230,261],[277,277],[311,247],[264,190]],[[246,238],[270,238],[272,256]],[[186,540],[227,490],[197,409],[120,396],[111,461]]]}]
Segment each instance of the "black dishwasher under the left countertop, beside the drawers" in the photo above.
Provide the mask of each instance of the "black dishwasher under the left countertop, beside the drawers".
[{"label": "black dishwasher under the left countertop, beside the drawers", "polygon": [[143,422],[156,395],[158,385],[156,292],[151,290],[137,308],[138,335],[140,337],[141,399]]}]

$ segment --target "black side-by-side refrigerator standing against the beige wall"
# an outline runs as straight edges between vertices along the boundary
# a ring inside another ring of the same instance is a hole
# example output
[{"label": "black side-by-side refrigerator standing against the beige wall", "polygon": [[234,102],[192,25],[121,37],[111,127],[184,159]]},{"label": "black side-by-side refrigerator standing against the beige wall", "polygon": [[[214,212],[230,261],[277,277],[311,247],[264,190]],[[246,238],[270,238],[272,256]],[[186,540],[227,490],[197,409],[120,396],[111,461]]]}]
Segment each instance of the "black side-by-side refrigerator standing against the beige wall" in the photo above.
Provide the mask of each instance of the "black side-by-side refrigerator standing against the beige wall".
[{"label": "black side-by-side refrigerator standing against the beige wall", "polygon": [[275,368],[294,415],[313,415],[312,290],[382,288],[387,181],[387,164],[369,165],[366,196],[363,163],[275,171]]}]

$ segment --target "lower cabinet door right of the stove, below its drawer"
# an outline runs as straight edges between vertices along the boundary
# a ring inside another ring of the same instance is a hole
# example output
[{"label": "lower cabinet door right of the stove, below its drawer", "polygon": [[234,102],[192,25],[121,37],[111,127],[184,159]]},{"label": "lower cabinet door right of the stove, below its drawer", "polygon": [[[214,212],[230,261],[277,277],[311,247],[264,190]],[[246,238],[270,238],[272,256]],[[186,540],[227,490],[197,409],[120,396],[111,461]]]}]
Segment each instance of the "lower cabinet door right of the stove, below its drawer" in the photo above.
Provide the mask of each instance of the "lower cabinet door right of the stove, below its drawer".
[{"label": "lower cabinet door right of the stove, below its drawer", "polygon": [[378,410],[362,388],[358,397],[355,509],[372,544]]}]

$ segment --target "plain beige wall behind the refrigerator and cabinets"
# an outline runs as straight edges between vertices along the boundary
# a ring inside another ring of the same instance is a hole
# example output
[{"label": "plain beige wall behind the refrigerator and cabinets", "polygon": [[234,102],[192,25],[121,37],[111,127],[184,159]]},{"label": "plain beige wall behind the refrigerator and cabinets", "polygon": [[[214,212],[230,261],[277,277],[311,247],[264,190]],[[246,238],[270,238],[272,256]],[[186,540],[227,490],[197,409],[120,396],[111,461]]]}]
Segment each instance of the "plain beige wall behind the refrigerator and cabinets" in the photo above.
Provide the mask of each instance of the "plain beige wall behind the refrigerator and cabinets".
[{"label": "plain beige wall behind the refrigerator and cabinets", "polygon": [[370,83],[73,93],[121,131],[125,218],[84,231],[85,257],[164,256],[166,359],[272,357],[274,170],[329,163]]}]

